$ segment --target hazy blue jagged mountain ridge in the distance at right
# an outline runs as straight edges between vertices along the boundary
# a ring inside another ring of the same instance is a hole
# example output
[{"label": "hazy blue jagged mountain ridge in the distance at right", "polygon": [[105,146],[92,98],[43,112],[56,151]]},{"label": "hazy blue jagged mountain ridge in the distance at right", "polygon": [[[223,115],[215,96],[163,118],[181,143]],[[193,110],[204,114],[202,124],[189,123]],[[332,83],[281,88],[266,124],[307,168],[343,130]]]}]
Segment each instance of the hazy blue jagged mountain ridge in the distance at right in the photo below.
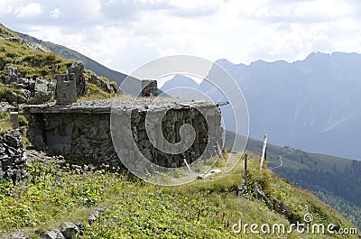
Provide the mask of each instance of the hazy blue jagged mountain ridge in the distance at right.
[{"label": "hazy blue jagged mountain ridge in the distance at right", "polygon": [[[313,52],[292,63],[217,63],[229,71],[245,95],[251,137],[268,133],[274,144],[361,159],[357,134],[361,133],[360,54]],[[207,80],[198,89],[216,101],[225,100]],[[227,122],[227,109],[225,113]]]}]

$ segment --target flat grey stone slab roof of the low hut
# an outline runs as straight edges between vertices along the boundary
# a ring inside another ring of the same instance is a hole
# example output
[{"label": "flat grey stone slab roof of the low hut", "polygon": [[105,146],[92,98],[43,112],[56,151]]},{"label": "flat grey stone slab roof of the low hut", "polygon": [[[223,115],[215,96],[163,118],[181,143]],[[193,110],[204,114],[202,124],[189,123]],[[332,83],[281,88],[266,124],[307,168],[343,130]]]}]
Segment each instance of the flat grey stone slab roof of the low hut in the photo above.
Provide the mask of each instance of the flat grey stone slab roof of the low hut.
[{"label": "flat grey stone slab roof of the low hut", "polygon": [[171,97],[158,98],[125,98],[119,100],[92,100],[79,101],[71,105],[29,105],[24,109],[33,114],[56,114],[56,113],[94,113],[110,114],[112,108],[122,110],[137,109],[139,112],[148,110],[184,109],[189,107],[204,108],[218,106],[218,103],[208,100],[187,100]]}]

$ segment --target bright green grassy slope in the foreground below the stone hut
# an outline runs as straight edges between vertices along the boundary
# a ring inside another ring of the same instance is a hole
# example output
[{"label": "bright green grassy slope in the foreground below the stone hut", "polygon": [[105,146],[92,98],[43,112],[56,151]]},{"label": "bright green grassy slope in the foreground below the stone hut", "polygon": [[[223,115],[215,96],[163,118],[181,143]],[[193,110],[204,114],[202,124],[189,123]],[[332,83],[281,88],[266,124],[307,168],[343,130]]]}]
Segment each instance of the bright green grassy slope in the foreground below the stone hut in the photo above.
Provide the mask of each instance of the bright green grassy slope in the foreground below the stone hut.
[{"label": "bright green grassy slope in the foreground below the stone hut", "polygon": [[[55,163],[31,164],[32,179],[18,186],[0,184],[0,228],[3,235],[16,228],[37,238],[64,222],[85,220],[92,207],[106,212],[86,229],[90,238],[236,238],[255,234],[234,234],[239,220],[258,225],[290,222],[255,199],[257,183],[268,197],[281,200],[292,212],[292,220],[302,222],[305,213],[314,223],[355,227],[332,208],[307,191],[292,187],[272,171],[259,172],[259,158],[249,158],[248,196],[236,197],[242,181],[243,161],[236,169],[215,179],[197,180],[179,187],[161,187],[132,179],[125,174],[104,171],[85,172],[60,169]],[[222,167],[218,161],[217,167]],[[0,234],[1,235],[1,234]],[[279,234],[280,238],[304,238],[304,234]],[[310,238],[330,238],[330,234]],[[338,238],[337,235],[334,235]],[[274,234],[259,234],[274,238]]]}]

